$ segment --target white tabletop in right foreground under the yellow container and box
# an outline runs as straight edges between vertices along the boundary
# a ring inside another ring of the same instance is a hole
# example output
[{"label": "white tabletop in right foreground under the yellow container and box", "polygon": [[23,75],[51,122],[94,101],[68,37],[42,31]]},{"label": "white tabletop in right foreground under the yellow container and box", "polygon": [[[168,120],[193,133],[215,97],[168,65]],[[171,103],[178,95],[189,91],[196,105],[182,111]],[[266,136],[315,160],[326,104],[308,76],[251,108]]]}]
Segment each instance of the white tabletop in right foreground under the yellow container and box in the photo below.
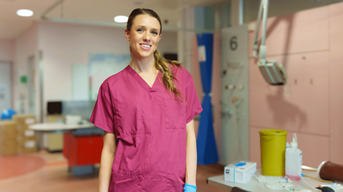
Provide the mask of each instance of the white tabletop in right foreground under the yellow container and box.
[{"label": "white tabletop in right foreground under the yellow container and box", "polygon": [[[261,168],[257,169],[257,176],[261,175],[261,170],[262,170]],[[224,170],[223,170],[223,172],[224,172]],[[304,175],[307,175],[307,176],[319,178],[319,176],[317,175],[317,172],[314,172],[314,171],[303,170],[302,173]],[[319,184],[328,184],[328,183],[324,183],[324,182],[314,180],[312,178],[304,177],[304,179],[305,179],[305,181],[307,181],[307,183],[310,183],[313,186],[318,186]],[[246,191],[254,191],[254,192],[255,191],[256,192],[279,191],[280,192],[280,190],[269,190],[267,188],[267,186],[265,186],[262,183],[259,183],[259,181],[257,181],[256,178],[252,178],[252,180],[250,180],[249,182],[244,183],[244,184],[224,181],[224,174],[220,175],[220,176],[212,176],[212,177],[207,178],[207,183],[211,186],[216,186],[218,188],[224,188],[227,191],[231,191],[232,188],[234,186],[236,186],[236,187],[242,188]],[[302,179],[300,179],[300,181],[292,181],[292,184],[294,185],[294,186],[292,186],[292,188],[307,189],[307,190],[315,191],[314,189],[309,188],[309,186],[306,183],[304,183],[304,181],[302,181]]]}]

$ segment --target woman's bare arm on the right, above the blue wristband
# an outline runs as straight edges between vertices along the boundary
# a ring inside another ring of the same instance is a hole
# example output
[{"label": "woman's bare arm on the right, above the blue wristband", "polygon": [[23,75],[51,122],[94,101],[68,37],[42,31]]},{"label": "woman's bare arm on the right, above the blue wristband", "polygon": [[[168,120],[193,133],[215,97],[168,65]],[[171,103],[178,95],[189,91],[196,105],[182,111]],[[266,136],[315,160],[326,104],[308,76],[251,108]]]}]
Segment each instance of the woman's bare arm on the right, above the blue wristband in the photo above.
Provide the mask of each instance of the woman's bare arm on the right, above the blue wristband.
[{"label": "woman's bare arm on the right, above the blue wristband", "polygon": [[197,139],[194,131],[194,120],[187,123],[187,159],[186,183],[196,186],[197,177]]}]

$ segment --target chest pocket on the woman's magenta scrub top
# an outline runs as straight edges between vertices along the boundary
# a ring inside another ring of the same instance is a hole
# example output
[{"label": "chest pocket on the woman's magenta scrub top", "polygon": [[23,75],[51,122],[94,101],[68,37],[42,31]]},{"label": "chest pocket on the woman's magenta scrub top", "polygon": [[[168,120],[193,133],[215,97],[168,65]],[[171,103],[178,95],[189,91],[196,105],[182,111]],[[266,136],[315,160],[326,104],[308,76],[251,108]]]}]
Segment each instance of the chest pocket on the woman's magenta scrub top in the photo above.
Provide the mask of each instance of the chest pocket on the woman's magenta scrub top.
[{"label": "chest pocket on the woman's magenta scrub top", "polygon": [[186,112],[182,100],[164,98],[164,112],[166,129],[184,129],[186,127]]}]

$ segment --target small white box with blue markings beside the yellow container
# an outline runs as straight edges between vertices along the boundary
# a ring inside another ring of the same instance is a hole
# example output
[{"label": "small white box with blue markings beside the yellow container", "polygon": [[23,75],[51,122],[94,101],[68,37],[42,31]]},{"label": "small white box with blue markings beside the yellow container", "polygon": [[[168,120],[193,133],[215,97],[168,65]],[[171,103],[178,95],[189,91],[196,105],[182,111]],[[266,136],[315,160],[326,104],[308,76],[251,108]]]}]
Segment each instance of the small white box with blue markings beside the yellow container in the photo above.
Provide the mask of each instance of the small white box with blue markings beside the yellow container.
[{"label": "small white box with blue markings beside the yellow container", "polygon": [[234,183],[247,183],[256,176],[257,164],[249,161],[237,161],[224,167],[224,180]]}]

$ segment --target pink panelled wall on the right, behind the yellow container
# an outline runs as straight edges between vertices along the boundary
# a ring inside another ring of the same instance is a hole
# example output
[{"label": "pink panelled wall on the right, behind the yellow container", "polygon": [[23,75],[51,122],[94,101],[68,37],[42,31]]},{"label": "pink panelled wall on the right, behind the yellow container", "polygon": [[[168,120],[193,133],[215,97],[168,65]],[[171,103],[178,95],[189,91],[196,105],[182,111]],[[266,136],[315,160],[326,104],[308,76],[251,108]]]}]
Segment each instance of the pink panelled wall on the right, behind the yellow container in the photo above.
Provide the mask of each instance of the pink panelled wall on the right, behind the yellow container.
[{"label": "pink panelled wall on the right, behind the yellow container", "polygon": [[[287,142],[297,133],[303,164],[342,164],[343,3],[268,18],[267,59],[287,70],[285,86],[267,85],[252,57],[249,33],[250,151],[260,166],[259,130],[284,129]],[[261,34],[261,33],[260,33]]]}]

